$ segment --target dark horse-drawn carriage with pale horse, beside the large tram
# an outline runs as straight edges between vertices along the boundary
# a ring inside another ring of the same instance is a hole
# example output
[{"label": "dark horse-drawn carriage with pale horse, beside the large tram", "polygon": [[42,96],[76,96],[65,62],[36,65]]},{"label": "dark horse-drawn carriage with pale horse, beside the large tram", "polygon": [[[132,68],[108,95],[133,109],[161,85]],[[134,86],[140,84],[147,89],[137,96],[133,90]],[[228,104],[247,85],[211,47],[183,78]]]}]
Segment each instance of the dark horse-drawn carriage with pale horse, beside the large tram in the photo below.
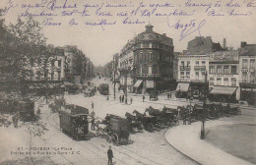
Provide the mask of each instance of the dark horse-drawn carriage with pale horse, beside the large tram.
[{"label": "dark horse-drawn carriage with pale horse, beside the large tram", "polygon": [[104,121],[96,124],[96,135],[106,138],[114,145],[129,143],[130,124],[127,119],[115,115],[107,115]]}]

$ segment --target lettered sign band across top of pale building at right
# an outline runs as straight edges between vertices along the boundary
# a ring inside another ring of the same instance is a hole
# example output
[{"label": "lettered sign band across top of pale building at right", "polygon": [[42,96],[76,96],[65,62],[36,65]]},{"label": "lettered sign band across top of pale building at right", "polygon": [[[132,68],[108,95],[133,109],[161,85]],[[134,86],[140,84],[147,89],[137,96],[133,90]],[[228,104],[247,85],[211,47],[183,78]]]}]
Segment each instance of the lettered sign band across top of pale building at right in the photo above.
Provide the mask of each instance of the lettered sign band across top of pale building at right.
[{"label": "lettered sign band across top of pale building at right", "polygon": [[219,51],[210,54],[210,62],[238,61],[238,51]]}]

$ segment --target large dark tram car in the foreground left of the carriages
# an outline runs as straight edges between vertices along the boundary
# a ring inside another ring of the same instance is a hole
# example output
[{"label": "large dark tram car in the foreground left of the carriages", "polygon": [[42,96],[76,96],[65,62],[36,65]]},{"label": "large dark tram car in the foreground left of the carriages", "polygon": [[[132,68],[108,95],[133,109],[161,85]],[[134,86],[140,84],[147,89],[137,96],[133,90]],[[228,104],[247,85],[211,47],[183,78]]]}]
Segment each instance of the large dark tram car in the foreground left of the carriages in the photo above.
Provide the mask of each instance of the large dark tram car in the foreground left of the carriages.
[{"label": "large dark tram car in the foreground left of the carriages", "polygon": [[89,110],[87,108],[67,104],[59,111],[60,129],[66,135],[76,139],[89,139]]}]

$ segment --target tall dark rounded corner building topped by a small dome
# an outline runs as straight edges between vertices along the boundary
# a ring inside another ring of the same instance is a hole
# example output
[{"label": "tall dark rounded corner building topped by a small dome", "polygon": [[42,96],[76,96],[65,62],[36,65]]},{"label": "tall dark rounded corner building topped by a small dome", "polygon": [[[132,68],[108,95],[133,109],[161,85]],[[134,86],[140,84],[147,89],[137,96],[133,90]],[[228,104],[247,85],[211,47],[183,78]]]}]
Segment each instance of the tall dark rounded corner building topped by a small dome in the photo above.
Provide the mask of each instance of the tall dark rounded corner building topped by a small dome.
[{"label": "tall dark rounded corner building topped by a small dome", "polygon": [[172,38],[153,31],[152,25],[135,37],[135,92],[166,89],[174,82],[173,48]]}]

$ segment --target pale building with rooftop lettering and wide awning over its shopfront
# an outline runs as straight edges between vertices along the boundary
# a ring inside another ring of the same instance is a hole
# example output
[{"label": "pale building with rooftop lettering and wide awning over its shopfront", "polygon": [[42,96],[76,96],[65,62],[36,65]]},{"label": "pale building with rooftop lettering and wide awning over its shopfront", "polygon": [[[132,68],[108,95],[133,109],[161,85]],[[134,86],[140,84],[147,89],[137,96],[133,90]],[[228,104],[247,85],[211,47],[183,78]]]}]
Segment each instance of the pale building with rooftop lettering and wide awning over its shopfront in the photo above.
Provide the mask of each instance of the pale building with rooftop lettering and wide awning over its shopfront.
[{"label": "pale building with rooftop lettering and wide awning over its shopfront", "polygon": [[238,50],[218,51],[210,54],[210,99],[222,102],[239,100]]}]

